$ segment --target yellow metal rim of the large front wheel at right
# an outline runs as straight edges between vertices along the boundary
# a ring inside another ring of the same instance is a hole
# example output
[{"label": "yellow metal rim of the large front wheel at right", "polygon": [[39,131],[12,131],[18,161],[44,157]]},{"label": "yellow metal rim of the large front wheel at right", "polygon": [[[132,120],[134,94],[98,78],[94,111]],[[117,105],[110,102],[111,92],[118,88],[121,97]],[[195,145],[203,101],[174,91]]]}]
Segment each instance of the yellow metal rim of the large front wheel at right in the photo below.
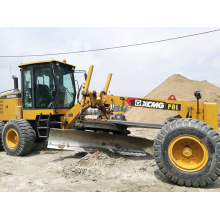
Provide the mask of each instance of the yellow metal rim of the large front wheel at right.
[{"label": "yellow metal rim of the large front wheel at right", "polygon": [[181,135],[171,141],[168,155],[178,169],[196,172],[207,164],[209,153],[207,147],[197,137]]}]

